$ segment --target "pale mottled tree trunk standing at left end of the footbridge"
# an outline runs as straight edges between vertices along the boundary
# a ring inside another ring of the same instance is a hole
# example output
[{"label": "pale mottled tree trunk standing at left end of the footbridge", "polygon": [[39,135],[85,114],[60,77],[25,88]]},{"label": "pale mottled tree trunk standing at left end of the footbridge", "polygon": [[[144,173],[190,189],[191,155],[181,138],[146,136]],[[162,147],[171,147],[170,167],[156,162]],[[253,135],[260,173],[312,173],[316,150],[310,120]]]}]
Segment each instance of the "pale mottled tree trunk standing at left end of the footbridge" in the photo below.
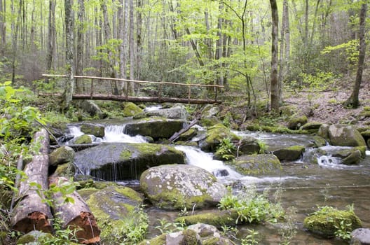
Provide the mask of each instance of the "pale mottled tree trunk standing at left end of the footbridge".
[{"label": "pale mottled tree trunk standing at left end of the footbridge", "polygon": [[64,106],[68,108],[74,94],[74,14],[72,10],[73,0],[64,0],[65,13],[65,37],[66,37],[66,63],[67,80],[64,97]]}]

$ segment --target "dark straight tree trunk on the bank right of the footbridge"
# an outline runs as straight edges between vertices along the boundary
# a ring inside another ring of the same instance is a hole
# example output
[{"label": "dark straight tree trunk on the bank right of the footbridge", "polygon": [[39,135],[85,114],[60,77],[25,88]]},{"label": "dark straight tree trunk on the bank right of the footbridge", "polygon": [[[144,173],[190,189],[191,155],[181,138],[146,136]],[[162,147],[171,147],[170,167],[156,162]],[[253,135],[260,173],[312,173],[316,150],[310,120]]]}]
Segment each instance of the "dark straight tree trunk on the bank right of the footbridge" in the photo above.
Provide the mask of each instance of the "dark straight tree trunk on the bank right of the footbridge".
[{"label": "dark straight tree trunk on the bank right of the footbridge", "polygon": [[279,112],[279,79],[278,79],[278,35],[279,35],[279,18],[278,18],[278,5],[276,0],[270,0],[271,18],[273,22],[272,27],[272,45],[271,45],[271,110],[274,113]]}]

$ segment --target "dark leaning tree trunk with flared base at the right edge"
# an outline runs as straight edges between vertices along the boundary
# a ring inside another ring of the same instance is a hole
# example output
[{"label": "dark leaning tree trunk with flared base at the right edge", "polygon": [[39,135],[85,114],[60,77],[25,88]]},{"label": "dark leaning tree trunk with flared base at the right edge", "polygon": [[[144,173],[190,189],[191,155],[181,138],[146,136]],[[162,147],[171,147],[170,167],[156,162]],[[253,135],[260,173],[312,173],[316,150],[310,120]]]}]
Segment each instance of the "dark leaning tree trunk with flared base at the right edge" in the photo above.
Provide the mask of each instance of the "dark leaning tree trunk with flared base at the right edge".
[{"label": "dark leaning tree trunk with flared base at the right edge", "polygon": [[352,94],[344,103],[345,106],[352,106],[357,108],[359,106],[359,87],[362,82],[362,73],[364,71],[364,60],[366,53],[366,40],[365,40],[365,24],[366,24],[366,10],[367,3],[362,3],[361,10],[359,12],[359,59],[357,64],[357,75],[355,85],[352,90]]}]

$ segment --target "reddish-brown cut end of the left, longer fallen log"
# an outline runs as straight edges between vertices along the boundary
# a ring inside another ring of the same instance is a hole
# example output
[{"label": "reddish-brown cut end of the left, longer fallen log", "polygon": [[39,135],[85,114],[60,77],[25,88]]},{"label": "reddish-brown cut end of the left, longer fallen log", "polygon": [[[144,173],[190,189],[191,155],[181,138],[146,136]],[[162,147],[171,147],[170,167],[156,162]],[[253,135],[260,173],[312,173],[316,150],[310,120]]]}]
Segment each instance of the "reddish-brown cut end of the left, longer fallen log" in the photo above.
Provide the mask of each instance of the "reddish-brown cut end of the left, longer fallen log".
[{"label": "reddish-brown cut end of the left, longer fallen log", "polygon": [[18,221],[18,223],[13,226],[13,229],[25,234],[31,232],[32,230],[40,230],[47,233],[52,232],[52,227],[48,221],[48,216],[38,211],[30,213],[26,218]]}]

